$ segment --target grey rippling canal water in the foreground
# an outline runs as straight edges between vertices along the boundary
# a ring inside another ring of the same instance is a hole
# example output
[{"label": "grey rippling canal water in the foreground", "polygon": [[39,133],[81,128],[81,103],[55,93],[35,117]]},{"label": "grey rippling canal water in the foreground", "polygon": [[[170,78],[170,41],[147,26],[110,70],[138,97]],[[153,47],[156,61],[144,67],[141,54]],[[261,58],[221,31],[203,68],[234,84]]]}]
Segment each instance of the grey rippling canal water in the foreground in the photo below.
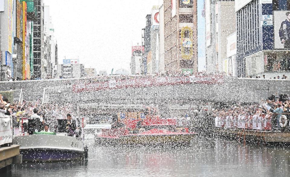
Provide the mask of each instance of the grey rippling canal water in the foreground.
[{"label": "grey rippling canal water in the foreground", "polygon": [[23,163],[12,176],[290,176],[289,145],[195,137],[190,147],[89,147],[83,162]]}]

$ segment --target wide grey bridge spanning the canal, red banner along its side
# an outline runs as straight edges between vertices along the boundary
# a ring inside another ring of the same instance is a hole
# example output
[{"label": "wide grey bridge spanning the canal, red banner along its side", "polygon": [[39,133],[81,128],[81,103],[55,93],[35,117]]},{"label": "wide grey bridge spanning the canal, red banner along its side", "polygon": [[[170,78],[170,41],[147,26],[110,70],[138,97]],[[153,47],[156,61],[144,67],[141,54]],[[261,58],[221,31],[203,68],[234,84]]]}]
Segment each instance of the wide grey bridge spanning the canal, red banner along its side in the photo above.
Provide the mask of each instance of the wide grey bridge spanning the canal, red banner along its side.
[{"label": "wide grey bridge spanning the canal, red banner along its side", "polygon": [[290,94],[290,80],[228,76],[98,77],[0,82],[0,90],[23,90],[23,99],[104,104],[176,104],[194,101],[259,102]]}]

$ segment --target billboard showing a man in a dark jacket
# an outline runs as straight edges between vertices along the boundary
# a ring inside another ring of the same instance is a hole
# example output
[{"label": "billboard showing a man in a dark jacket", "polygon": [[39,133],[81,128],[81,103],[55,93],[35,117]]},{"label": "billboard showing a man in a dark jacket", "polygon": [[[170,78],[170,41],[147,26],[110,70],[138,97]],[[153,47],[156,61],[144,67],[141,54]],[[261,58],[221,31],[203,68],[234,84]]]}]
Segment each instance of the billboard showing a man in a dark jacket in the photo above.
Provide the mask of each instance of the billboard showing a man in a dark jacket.
[{"label": "billboard showing a man in a dark jacket", "polygon": [[273,11],[274,49],[290,49],[290,11]]}]

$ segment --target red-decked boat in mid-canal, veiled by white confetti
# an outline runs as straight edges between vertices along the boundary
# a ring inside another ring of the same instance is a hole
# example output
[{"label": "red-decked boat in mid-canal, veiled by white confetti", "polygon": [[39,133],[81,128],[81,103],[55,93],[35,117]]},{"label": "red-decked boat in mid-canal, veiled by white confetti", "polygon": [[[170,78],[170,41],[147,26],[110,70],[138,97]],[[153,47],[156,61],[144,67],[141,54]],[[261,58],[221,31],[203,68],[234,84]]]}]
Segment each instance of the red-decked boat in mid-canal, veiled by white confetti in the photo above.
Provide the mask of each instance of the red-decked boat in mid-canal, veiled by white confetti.
[{"label": "red-decked boat in mid-canal, veiled by white confetti", "polygon": [[100,145],[161,145],[188,146],[194,132],[188,128],[178,127],[175,119],[160,119],[159,116],[147,117],[141,121],[141,128],[136,131],[140,120],[124,120],[125,127],[116,129],[102,129],[96,135],[95,141]]}]

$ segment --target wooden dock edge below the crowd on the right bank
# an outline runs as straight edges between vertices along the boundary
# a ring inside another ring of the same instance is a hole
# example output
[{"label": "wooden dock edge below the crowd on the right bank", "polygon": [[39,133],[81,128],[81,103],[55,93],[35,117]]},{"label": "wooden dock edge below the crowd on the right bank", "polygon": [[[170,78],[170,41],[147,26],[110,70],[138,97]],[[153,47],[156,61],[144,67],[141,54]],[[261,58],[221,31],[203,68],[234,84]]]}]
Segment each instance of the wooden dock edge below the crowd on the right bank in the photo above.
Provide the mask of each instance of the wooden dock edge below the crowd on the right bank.
[{"label": "wooden dock edge below the crowd on the right bank", "polygon": [[259,140],[264,142],[290,142],[290,132],[275,132],[263,130],[243,130],[230,128],[214,128],[214,133],[221,136]]}]

